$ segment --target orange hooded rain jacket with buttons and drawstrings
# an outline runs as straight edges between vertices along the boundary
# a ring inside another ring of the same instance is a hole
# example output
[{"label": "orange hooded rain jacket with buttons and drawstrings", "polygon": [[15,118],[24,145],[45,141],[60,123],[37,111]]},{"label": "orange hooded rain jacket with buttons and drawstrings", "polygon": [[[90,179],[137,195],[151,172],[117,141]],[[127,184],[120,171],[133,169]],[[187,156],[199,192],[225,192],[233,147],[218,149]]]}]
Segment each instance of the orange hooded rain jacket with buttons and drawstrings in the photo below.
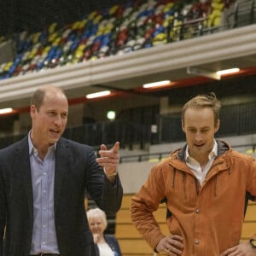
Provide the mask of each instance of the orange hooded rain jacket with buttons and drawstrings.
[{"label": "orange hooded rain jacket with buttons and drawstrings", "polygon": [[[165,235],[153,212],[166,198],[171,234],[183,236],[183,256],[218,256],[239,244],[246,191],[256,201],[256,162],[218,141],[203,185],[184,162],[185,147],[154,166],[131,201],[131,219],[155,249]],[[256,238],[256,234],[253,238]]]}]

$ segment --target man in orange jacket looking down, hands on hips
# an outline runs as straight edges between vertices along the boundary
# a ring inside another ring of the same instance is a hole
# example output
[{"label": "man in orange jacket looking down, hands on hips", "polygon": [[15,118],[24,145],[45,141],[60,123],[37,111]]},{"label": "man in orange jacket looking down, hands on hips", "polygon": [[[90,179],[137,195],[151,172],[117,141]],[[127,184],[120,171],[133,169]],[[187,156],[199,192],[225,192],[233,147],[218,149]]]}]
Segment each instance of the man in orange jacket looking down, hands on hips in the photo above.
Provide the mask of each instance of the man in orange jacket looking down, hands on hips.
[{"label": "man in orange jacket looking down, hands on hips", "polygon": [[[221,105],[215,94],[183,106],[187,144],[154,166],[131,202],[131,218],[155,252],[183,256],[256,255],[256,234],[240,243],[246,194],[256,201],[256,162],[214,139]],[[165,236],[153,212],[166,199]]]}]

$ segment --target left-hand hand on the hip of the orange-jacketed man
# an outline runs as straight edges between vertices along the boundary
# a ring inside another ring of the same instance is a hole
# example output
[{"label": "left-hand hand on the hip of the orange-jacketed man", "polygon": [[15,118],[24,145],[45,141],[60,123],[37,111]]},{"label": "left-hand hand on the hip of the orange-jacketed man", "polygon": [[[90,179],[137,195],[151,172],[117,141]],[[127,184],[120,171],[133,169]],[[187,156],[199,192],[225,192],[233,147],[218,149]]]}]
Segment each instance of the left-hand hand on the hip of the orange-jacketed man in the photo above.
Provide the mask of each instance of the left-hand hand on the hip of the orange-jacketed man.
[{"label": "left-hand hand on the hip of the orange-jacketed man", "polygon": [[181,255],[183,253],[183,237],[178,235],[166,236],[158,243],[155,249],[159,253],[165,252],[166,255]]}]

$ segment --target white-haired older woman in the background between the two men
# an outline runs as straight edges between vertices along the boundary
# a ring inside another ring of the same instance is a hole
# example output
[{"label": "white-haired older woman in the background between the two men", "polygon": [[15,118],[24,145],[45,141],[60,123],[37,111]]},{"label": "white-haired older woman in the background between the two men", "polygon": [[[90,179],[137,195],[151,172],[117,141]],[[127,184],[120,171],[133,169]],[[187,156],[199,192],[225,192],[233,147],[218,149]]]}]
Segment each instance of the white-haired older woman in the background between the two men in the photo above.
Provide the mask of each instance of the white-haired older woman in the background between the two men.
[{"label": "white-haired older woman in the background between the two men", "polygon": [[96,244],[97,256],[122,256],[119,242],[113,236],[104,235],[107,228],[106,213],[100,208],[90,209],[87,212],[90,231]]}]

